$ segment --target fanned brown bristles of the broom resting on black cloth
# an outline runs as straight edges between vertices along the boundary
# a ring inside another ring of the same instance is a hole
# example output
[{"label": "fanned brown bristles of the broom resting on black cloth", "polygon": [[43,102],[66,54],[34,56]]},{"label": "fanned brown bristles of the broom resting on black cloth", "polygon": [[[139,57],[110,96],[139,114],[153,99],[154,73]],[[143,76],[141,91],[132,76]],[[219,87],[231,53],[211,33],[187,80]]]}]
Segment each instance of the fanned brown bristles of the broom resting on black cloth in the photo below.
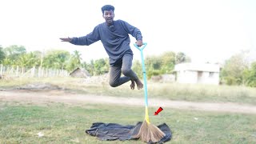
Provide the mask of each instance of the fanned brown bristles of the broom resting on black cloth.
[{"label": "fanned brown bristles of the broom resting on black cloth", "polygon": [[166,134],[162,132],[157,126],[147,123],[146,120],[142,122],[142,126],[137,135],[133,138],[139,138],[143,142],[159,142]]}]

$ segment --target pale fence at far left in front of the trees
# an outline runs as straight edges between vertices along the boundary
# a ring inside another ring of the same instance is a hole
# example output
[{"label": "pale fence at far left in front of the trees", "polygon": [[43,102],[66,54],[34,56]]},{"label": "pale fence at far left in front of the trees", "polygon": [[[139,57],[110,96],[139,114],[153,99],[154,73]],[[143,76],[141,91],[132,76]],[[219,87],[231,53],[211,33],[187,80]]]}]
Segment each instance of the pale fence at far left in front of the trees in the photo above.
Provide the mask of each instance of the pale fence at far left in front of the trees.
[{"label": "pale fence at far left in front of the trees", "polygon": [[3,66],[0,64],[0,77],[29,77],[29,78],[40,78],[40,77],[68,77],[69,73],[67,70],[48,69],[44,67],[22,67],[22,66]]}]

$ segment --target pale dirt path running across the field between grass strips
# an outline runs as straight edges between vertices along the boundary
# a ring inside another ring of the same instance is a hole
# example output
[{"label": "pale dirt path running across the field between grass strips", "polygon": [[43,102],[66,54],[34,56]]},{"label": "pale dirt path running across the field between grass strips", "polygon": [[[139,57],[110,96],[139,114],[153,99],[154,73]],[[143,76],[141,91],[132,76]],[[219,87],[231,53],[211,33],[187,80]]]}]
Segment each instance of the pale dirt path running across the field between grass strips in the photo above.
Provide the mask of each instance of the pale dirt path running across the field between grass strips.
[{"label": "pale dirt path running across the field between grass strips", "polygon": [[[117,98],[87,94],[70,94],[66,92],[66,90],[2,90],[0,92],[0,102],[30,102],[34,104],[47,102],[64,102],[72,105],[93,103],[119,106],[144,106],[143,98]],[[149,106],[162,106],[163,108],[168,107],[183,110],[205,110],[256,114],[256,106],[242,105],[238,103],[185,102],[150,98]]]}]

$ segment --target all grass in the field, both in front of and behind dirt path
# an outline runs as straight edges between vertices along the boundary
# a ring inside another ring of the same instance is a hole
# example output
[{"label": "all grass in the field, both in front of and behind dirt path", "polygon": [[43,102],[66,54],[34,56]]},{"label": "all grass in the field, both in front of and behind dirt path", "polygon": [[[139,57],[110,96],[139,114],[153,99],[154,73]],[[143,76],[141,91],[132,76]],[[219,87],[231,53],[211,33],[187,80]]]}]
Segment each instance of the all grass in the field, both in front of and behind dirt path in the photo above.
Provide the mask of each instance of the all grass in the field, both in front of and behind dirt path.
[{"label": "all grass in the field, both in front of and behind dirt path", "polygon": [[[0,81],[0,89],[34,82],[49,82],[75,94],[143,98],[143,90],[130,90],[129,84],[111,88],[107,84],[86,84],[80,78],[30,78]],[[238,102],[256,104],[256,90],[239,86],[177,85],[149,82],[149,98],[190,102]],[[1,94],[1,90],[0,90]],[[155,109],[155,108],[154,108]],[[150,120],[165,122],[173,132],[167,143],[256,143],[256,115],[218,113],[164,108]],[[139,141],[102,142],[85,133],[93,122],[135,125],[144,119],[144,107],[58,102],[4,102],[0,99],[0,143],[143,143]],[[44,134],[38,137],[38,133]]]}]

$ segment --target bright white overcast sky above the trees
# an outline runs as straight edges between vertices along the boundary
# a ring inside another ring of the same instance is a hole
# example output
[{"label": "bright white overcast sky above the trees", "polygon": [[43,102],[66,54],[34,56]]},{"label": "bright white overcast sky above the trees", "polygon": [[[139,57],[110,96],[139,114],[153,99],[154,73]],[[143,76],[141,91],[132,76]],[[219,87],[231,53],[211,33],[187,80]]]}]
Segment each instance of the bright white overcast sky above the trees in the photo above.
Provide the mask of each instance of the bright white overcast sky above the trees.
[{"label": "bright white overcast sky above the trees", "polygon": [[[0,45],[26,50],[78,50],[82,60],[108,58],[100,41],[75,46],[59,38],[89,34],[104,22],[101,7],[115,7],[122,19],[142,31],[146,56],[183,52],[192,62],[218,62],[242,50],[256,60],[254,0],[0,0]],[[133,46],[134,59],[140,59]]]}]

